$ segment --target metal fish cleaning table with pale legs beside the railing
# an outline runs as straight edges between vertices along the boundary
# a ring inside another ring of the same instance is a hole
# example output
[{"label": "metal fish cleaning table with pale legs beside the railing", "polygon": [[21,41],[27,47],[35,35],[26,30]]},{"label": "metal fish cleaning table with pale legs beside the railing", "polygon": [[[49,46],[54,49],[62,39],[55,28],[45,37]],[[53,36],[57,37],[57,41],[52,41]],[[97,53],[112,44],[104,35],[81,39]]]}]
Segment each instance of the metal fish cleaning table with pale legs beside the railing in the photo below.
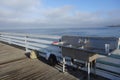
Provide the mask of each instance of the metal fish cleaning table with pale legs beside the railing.
[{"label": "metal fish cleaning table with pale legs beside the railing", "polygon": [[[80,36],[62,36],[60,42],[54,45],[61,47],[63,55],[63,72],[65,72],[65,57],[82,60],[87,63],[88,80],[90,80],[90,65],[95,70],[96,59],[99,55],[110,55],[116,49],[119,49],[119,38],[114,37],[80,37]],[[95,72],[95,71],[94,71]]]}]

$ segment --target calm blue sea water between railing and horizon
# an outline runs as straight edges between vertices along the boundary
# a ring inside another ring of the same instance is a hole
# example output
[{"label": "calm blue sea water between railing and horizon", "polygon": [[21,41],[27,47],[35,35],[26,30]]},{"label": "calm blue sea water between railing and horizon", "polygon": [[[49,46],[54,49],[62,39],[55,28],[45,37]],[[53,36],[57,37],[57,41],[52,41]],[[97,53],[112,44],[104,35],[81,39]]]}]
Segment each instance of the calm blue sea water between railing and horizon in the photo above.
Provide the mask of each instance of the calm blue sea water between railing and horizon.
[{"label": "calm blue sea water between railing and horizon", "polygon": [[14,29],[0,30],[0,32],[16,32],[29,34],[47,35],[80,35],[80,36],[108,36],[120,37],[120,27],[99,27],[99,28],[37,28],[37,29]]}]

